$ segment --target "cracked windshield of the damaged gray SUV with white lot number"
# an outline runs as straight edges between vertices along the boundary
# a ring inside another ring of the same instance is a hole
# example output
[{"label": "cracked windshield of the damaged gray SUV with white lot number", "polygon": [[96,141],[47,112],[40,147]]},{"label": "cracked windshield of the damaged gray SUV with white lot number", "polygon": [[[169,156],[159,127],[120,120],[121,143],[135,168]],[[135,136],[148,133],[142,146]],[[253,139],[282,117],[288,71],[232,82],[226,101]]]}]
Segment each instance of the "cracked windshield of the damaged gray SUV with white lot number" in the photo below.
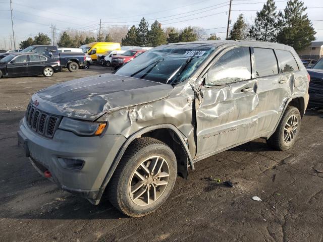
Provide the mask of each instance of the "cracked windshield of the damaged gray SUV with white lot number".
[{"label": "cracked windshield of the damaged gray SUV with white lot number", "polygon": [[214,49],[201,44],[154,48],[134,58],[116,74],[165,84],[179,83],[188,79]]}]

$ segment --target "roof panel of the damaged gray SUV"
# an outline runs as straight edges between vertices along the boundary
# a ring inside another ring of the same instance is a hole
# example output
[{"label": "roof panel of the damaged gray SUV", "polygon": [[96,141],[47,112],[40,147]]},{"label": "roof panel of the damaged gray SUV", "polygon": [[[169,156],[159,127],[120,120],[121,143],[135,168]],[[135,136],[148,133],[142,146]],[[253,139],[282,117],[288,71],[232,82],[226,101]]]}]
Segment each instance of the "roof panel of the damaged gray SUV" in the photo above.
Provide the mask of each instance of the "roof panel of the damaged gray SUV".
[{"label": "roof panel of the damaged gray SUV", "polygon": [[194,42],[179,42],[179,43],[170,43],[161,45],[159,47],[167,48],[173,45],[185,45],[185,44],[195,44],[195,45],[211,45],[214,47],[218,46],[255,46],[255,47],[271,47],[271,48],[279,48],[279,49],[293,49],[292,47],[273,43],[273,42],[265,42],[265,41],[255,41],[255,40],[203,40],[203,41],[194,41]]}]

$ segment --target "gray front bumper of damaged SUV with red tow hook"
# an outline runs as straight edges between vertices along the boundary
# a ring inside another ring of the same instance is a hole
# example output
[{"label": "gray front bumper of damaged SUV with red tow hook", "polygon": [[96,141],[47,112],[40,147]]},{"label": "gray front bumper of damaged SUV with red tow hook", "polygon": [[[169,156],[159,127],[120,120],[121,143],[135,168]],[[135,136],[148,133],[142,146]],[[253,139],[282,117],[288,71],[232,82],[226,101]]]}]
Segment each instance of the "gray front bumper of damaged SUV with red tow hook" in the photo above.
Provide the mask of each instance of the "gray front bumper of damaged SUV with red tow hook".
[{"label": "gray front bumper of damaged SUV with red tow hook", "polygon": [[[77,193],[97,204],[102,182],[114,158],[126,139],[122,135],[80,137],[72,132],[58,129],[52,139],[32,131],[23,118],[18,131],[18,145],[24,150],[36,170],[63,190]],[[80,170],[64,168],[58,158],[84,161]]]}]

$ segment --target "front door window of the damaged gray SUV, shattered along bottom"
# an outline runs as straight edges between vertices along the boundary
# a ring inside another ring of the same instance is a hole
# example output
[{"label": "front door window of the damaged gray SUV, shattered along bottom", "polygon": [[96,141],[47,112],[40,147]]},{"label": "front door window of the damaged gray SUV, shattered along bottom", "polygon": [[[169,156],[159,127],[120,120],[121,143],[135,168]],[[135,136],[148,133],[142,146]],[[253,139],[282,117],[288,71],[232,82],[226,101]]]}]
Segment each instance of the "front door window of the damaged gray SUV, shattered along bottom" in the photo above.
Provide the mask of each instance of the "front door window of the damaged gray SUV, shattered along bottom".
[{"label": "front door window of the damaged gray SUV, shattered along bottom", "polygon": [[222,85],[251,79],[250,48],[234,48],[222,55],[207,73],[206,84]]}]

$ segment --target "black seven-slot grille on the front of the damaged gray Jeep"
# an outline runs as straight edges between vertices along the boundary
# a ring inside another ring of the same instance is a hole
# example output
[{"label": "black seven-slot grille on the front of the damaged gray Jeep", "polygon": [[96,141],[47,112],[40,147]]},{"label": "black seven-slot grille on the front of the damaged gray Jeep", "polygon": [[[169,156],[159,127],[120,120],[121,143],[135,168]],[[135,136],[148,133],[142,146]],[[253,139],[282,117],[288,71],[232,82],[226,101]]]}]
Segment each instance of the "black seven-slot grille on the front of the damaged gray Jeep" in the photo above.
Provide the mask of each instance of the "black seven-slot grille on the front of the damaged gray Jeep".
[{"label": "black seven-slot grille on the front of the damaged gray Jeep", "polygon": [[28,126],[38,134],[52,138],[57,130],[61,117],[43,112],[31,104],[26,111],[26,122]]}]

